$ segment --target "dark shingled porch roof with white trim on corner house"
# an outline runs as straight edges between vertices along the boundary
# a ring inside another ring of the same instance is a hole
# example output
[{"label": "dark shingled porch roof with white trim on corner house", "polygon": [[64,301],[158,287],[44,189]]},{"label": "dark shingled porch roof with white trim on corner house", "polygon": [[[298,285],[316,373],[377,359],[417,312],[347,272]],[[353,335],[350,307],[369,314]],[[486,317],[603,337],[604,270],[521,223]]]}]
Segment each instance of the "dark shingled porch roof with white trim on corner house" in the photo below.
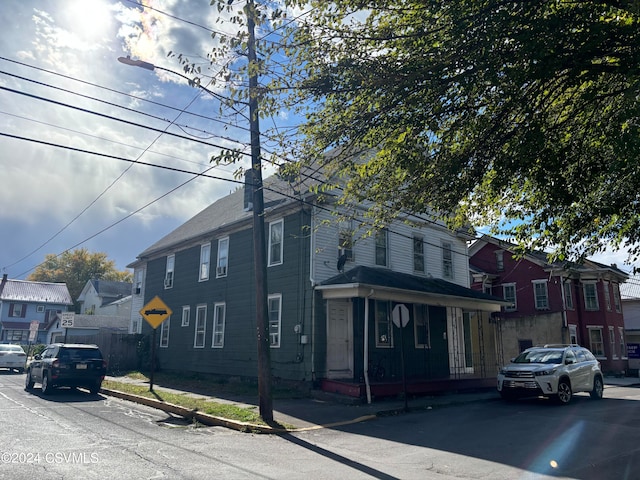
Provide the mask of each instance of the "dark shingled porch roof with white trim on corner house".
[{"label": "dark shingled porch roof with white trim on corner house", "polygon": [[499,312],[505,300],[440,278],[419,277],[384,268],[355,267],[316,286],[325,299],[373,298]]}]

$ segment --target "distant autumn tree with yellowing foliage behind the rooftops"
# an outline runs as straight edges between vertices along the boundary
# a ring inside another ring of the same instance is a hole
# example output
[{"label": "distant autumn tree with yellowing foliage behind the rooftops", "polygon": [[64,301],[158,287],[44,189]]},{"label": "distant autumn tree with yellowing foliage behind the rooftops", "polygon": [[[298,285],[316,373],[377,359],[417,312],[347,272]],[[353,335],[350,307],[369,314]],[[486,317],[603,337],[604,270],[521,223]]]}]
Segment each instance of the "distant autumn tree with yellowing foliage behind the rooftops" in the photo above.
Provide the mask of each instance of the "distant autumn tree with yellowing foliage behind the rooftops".
[{"label": "distant autumn tree with yellowing foliage behind the rooftops", "polygon": [[115,262],[106,253],[91,253],[86,248],[66,251],[61,255],[48,254],[27,280],[66,283],[78,311],[77,299],[91,279],[131,282],[130,272],[116,270]]}]

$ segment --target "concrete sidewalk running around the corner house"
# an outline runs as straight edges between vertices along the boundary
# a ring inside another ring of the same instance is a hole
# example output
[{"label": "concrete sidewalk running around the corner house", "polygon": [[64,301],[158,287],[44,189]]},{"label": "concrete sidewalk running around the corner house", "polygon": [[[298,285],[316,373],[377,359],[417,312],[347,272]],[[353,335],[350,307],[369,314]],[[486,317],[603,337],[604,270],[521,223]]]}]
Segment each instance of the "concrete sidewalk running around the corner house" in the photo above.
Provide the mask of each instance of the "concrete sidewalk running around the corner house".
[{"label": "concrete sidewalk running around the corner house", "polygon": [[[128,377],[107,377],[108,380],[117,382],[126,382],[136,385],[148,386],[149,383],[142,380],[135,380]],[[605,377],[605,388],[613,386],[640,386],[640,378],[633,377]],[[218,403],[230,403],[244,408],[258,408],[257,398],[243,398],[231,396],[210,397],[198,393],[185,392],[169,388],[166,386],[154,385],[156,392],[173,392],[193,395],[199,398],[207,398]],[[197,412],[187,409],[175,408],[165,402],[158,400],[149,400],[136,395],[123,394],[121,392],[102,389],[102,393],[106,395],[117,396],[126,400],[142,403],[154,408],[159,408],[168,413],[193,418],[208,425],[223,425],[241,431],[262,431],[265,433],[281,433],[277,427],[257,427],[242,422],[233,422],[216,417],[203,416]],[[279,424],[293,425],[294,431],[313,430],[318,428],[336,428],[340,425],[372,420],[380,416],[391,416],[403,413],[405,411],[405,402],[402,399],[382,399],[371,404],[345,404],[339,401],[335,396],[329,394],[320,394],[317,398],[291,398],[276,399],[273,401],[274,420]],[[408,399],[406,407],[409,411],[430,410],[433,408],[441,408],[450,405],[462,405],[466,403],[475,403],[482,401],[500,400],[500,396],[496,390],[484,390],[470,393],[453,393],[437,396],[425,396]],[[291,431],[291,429],[289,429]]]}]

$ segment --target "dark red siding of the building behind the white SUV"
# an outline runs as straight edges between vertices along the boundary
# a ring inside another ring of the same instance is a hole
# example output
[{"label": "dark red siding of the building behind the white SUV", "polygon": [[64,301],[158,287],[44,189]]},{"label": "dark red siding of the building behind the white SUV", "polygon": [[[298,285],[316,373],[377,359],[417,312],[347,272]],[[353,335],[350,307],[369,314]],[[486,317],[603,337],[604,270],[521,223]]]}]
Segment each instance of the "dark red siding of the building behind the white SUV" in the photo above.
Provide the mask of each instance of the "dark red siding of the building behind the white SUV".
[{"label": "dark red siding of the building behind the white SUV", "polygon": [[[624,281],[624,274],[616,272],[615,266],[607,267],[586,262],[584,265],[550,264],[537,254],[532,257],[515,257],[510,250],[492,241],[482,241],[481,248],[474,249],[471,263],[474,268],[492,276],[492,293],[503,296],[503,285],[515,284],[516,309],[503,309],[498,316],[501,348],[505,360],[520,352],[521,342],[533,345],[546,343],[569,343],[569,328],[575,326],[578,342],[590,348],[589,327],[602,329],[604,355],[598,359],[606,373],[624,371],[627,368],[626,354],[620,355],[619,328],[624,327],[621,311],[617,311],[613,290]],[[504,268],[499,269],[496,252],[502,252]],[[536,308],[534,282],[543,281],[547,285],[547,308]],[[606,309],[604,282],[609,282],[611,310]],[[573,308],[565,308],[563,282],[570,282]],[[598,309],[587,310],[583,285],[593,282],[596,287]],[[482,288],[476,284],[475,288]],[[609,327],[614,328],[614,348],[612,351]]]}]

